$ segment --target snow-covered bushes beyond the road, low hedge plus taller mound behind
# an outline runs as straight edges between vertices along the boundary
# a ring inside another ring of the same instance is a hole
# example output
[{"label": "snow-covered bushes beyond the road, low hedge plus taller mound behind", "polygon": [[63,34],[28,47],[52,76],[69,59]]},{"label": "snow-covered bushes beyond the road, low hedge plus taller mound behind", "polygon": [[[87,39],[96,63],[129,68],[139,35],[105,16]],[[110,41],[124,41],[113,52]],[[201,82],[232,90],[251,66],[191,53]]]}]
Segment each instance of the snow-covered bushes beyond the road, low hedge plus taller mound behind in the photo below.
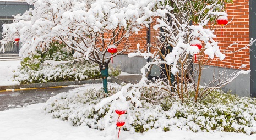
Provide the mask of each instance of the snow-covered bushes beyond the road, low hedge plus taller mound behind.
[{"label": "snow-covered bushes beyond the road, low hedge plus taller mound behind", "polygon": [[[51,43],[45,52],[37,51],[21,60],[21,66],[14,71],[13,78],[21,84],[41,82],[78,81],[99,79],[99,65],[89,61],[51,65],[46,60],[72,61],[74,57],[66,46],[59,42]],[[113,69],[115,71],[115,69]]]}]

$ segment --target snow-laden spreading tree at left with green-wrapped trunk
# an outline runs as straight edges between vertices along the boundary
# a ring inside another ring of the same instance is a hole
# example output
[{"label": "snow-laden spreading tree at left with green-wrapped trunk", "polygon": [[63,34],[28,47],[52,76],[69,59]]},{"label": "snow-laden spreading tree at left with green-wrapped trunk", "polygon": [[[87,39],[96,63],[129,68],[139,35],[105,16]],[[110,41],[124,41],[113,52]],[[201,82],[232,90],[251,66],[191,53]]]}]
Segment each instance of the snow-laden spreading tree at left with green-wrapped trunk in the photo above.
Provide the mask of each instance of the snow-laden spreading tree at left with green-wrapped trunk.
[{"label": "snow-laden spreading tree at left with green-wrapped trunk", "polygon": [[[20,38],[20,55],[27,57],[43,52],[58,41],[75,51],[77,60],[85,59],[100,65],[107,93],[108,63],[111,57],[126,51],[129,36],[138,33],[137,19],[149,1],[136,0],[28,0],[34,5],[23,15],[14,16],[12,24],[3,25],[2,44]],[[108,53],[108,47],[118,52]],[[4,46],[0,51],[4,51]],[[112,56],[111,56],[112,55]]]}]

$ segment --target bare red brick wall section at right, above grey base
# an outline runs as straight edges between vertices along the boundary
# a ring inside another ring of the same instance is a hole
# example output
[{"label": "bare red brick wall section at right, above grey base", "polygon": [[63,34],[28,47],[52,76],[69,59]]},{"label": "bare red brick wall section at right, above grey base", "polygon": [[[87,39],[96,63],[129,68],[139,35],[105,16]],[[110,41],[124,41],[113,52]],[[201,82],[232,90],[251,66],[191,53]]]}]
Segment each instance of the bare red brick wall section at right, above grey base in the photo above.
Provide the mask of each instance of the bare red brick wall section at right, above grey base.
[{"label": "bare red brick wall section at right, above grey base", "polygon": [[[239,42],[238,45],[228,49],[230,51],[236,51],[249,43],[249,2],[248,0],[233,0],[233,4],[226,4],[226,13],[228,14],[228,21],[232,22],[225,26],[223,29],[223,36],[221,36],[221,29],[216,30],[217,40],[219,42],[220,49],[225,50],[230,44]],[[217,25],[220,28],[220,25]],[[247,67],[244,70],[250,69],[249,48],[244,49],[232,54],[226,54],[226,58],[223,61],[214,59],[209,65],[221,66],[227,68],[237,69],[242,64],[246,64]]]}]

